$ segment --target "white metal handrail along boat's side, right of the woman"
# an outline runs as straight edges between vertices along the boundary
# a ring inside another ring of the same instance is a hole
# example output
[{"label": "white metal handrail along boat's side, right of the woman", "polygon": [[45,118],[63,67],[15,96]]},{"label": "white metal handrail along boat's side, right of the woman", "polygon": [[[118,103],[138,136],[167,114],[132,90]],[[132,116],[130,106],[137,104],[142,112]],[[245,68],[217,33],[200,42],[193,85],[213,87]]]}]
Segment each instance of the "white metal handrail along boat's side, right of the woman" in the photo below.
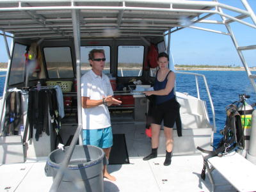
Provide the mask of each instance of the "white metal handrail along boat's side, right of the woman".
[{"label": "white metal handrail along boat's side, right of the woman", "polygon": [[207,95],[208,95],[209,102],[210,102],[211,109],[212,109],[212,122],[213,122],[213,129],[214,129],[214,132],[216,132],[216,123],[215,123],[215,112],[214,112],[214,106],[213,106],[213,103],[212,103],[211,93],[209,92],[209,87],[208,87],[208,84],[207,84],[207,81],[206,81],[205,76],[204,76],[203,74],[196,74],[196,73],[193,73],[193,72],[181,72],[181,71],[175,71],[175,73],[177,73],[177,74],[184,74],[184,75],[192,75],[192,76],[195,76],[195,78],[196,78],[196,92],[197,92],[197,98],[198,98],[198,99],[200,99],[200,93],[199,93],[199,86],[198,86],[197,77],[198,77],[198,76],[203,77],[203,79],[204,79],[204,84],[205,84],[205,88],[206,88]]}]

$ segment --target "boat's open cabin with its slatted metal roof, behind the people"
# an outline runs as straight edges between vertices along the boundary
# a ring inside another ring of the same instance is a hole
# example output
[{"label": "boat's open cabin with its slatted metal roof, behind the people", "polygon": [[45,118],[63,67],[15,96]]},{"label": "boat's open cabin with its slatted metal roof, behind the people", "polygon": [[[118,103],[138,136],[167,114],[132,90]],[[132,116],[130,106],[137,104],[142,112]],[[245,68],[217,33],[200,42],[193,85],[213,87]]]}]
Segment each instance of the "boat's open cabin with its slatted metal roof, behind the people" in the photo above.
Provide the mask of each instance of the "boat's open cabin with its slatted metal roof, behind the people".
[{"label": "boat's open cabin with its slatted metal roof, behind the people", "polygon": [[[91,69],[88,53],[92,49],[104,49],[103,72],[115,98],[122,100],[120,106],[110,106],[109,112],[113,134],[124,134],[130,159],[150,152],[150,138],[145,134],[148,99],[143,90],[154,85],[159,52],[169,54],[169,68],[175,71],[170,49],[173,33],[194,28],[230,36],[256,90],[255,76],[242,52],[255,45],[239,47],[230,28],[233,22],[256,28],[250,5],[246,0],[242,3],[244,10],[218,1],[1,0],[0,35],[9,61],[0,110],[0,163],[47,157],[60,143],[83,144],[81,76]],[[208,20],[215,14],[221,20]],[[243,20],[248,17],[254,24]],[[222,24],[227,32],[194,26],[198,23]],[[10,47],[6,38],[12,38]],[[199,154],[196,147],[210,149],[216,132],[211,93],[204,75],[175,74],[195,79],[197,96],[175,90],[180,122],[173,127],[173,155]],[[207,100],[200,97],[202,86]],[[159,156],[165,156],[163,130]]]}]

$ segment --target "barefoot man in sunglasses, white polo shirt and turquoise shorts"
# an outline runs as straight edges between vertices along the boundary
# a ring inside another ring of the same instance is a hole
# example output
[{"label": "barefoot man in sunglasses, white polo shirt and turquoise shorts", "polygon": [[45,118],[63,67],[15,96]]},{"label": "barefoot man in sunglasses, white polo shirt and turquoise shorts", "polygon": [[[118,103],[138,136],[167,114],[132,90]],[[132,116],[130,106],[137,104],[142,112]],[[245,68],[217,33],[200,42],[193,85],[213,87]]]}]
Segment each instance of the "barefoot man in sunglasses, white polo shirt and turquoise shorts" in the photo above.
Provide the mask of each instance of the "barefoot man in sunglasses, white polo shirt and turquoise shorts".
[{"label": "barefoot man in sunglasses, white polo shirt and turquoise shorts", "polygon": [[[112,97],[113,90],[109,78],[102,73],[106,61],[104,50],[90,51],[89,61],[92,70],[81,77],[83,145],[102,148],[108,159],[113,145],[108,106],[122,102]],[[106,165],[103,168],[103,176],[109,180],[116,180],[109,175]]]}]

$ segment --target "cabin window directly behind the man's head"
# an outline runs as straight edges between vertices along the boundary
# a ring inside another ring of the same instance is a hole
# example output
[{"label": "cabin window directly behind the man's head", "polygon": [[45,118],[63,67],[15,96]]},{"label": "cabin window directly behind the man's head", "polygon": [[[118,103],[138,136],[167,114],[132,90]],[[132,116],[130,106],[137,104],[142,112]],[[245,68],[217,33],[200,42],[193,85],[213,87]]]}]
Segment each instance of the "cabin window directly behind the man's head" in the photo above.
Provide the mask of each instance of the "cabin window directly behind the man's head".
[{"label": "cabin window directly behind the man's head", "polygon": [[88,54],[92,49],[103,49],[105,52],[106,62],[104,74],[110,74],[110,47],[109,46],[82,46],[81,47],[81,74],[85,74],[92,67],[88,60]]}]

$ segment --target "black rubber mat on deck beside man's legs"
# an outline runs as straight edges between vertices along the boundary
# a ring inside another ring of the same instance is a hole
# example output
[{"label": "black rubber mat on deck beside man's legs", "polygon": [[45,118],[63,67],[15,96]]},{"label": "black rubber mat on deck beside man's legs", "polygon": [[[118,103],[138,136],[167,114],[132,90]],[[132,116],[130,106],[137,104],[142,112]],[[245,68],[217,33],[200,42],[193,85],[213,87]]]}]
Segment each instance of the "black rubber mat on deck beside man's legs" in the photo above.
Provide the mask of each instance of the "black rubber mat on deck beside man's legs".
[{"label": "black rubber mat on deck beside man's legs", "polygon": [[109,164],[129,164],[125,134],[113,134],[113,146],[109,155]]}]

